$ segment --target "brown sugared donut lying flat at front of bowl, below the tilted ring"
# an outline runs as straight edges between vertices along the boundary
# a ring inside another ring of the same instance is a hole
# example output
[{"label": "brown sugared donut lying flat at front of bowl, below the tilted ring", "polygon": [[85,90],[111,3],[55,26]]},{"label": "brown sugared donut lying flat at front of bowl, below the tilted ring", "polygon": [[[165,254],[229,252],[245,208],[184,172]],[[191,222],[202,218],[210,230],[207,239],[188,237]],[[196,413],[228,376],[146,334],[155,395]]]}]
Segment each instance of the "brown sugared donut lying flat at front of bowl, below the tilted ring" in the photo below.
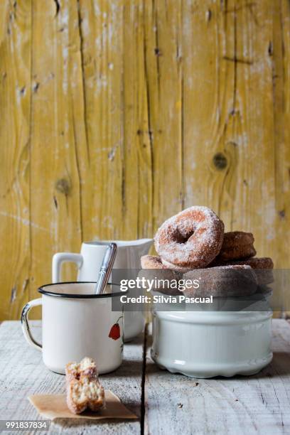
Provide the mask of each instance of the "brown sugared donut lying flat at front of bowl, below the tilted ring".
[{"label": "brown sugared donut lying flat at front of bowl, below the tilted ring", "polygon": [[185,289],[186,296],[250,296],[257,291],[256,275],[245,264],[194,269],[183,274],[183,279],[198,279],[200,284],[198,289]]}]

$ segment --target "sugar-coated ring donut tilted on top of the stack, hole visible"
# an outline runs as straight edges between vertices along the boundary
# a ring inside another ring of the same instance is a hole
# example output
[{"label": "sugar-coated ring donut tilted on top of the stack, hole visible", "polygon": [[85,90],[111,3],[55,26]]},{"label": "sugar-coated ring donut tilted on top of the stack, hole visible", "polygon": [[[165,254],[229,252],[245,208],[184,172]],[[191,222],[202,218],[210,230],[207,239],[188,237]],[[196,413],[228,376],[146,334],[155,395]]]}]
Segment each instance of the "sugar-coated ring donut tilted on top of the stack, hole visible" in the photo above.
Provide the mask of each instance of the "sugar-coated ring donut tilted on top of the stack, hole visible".
[{"label": "sugar-coated ring donut tilted on top of the stack, hole visible", "polygon": [[223,235],[223,222],[213,210],[193,206],[163,222],[154,242],[163,262],[193,269],[213,261]]}]

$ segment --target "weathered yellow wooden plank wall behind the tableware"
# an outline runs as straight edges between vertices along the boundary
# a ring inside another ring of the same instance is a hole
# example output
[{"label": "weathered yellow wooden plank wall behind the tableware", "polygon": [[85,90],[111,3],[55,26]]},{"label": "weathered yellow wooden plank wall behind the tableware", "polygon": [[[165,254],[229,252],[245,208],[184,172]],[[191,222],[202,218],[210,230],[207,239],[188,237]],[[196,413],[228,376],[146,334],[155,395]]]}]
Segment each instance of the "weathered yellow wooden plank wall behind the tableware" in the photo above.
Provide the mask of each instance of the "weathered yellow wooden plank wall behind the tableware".
[{"label": "weathered yellow wooden plank wall behind the tableware", "polygon": [[287,0],[0,1],[1,319],[54,252],[194,204],[289,265],[289,19]]}]

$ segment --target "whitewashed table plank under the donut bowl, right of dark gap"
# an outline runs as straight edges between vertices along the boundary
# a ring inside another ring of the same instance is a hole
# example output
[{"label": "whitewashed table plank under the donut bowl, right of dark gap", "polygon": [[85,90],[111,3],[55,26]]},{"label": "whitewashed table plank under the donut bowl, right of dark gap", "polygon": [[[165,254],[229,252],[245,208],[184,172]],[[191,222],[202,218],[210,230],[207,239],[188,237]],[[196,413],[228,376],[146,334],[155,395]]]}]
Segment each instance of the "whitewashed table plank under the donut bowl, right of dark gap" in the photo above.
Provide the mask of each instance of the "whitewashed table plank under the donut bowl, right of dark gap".
[{"label": "whitewashed table plank under the donut bowl, right of dark gap", "polygon": [[144,433],[289,434],[289,323],[273,321],[272,342],[273,361],[257,375],[208,380],[160,370],[148,345]]}]

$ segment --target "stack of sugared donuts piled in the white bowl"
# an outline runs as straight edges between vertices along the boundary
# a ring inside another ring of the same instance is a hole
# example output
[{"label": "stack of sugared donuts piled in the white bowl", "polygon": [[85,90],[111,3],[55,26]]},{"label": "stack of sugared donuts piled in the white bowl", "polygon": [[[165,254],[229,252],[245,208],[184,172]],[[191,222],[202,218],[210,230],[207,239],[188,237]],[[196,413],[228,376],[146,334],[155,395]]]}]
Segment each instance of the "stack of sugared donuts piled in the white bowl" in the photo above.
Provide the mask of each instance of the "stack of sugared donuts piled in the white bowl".
[{"label": "stack of sugared donuts piled in the white bowl", "polygon": [[[188,296],[247,296],[257,284],[273,281],[272,259],[254,257],[252,233],[224,232],[222,220],[207,207],[187,208],[163,222],[154,244],[159,255],[141,257],[142,269],[169,269],[184,279],[201,275],[203,285],[184,291]],[[254,285],[245,285],[245,277]]]}]

